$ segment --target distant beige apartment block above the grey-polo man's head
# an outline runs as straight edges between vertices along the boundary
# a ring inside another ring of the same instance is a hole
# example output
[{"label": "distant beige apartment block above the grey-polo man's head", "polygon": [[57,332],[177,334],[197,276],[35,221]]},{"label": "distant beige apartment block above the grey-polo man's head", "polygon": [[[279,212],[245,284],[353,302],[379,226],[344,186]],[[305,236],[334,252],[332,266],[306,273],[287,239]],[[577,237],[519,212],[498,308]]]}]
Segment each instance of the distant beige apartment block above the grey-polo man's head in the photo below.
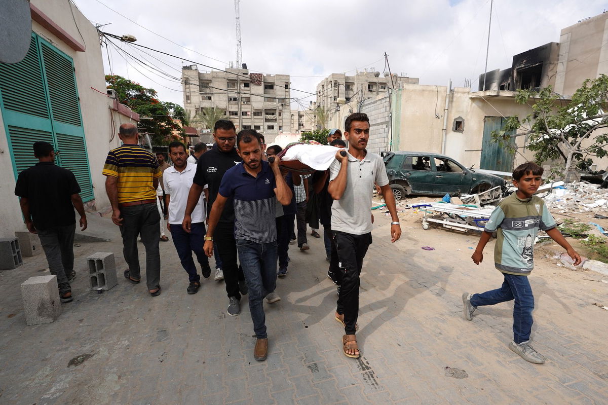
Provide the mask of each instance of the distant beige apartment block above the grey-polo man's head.
[{"label": "distant beige apartment block above the grey-polo man's head", "polygon": [[418,78],[396,74],[391,77],[388,72],[381,75],[380,72],[367,69],[357,72],[354,76],[333,73],[317,85],[317,106],[330,111],[336,109],[340,99],[344,99],[345,103],[350,103],[351,100],[362,102],[386,94],[389,88],[398,89],[406,84],[417,85]]}]

